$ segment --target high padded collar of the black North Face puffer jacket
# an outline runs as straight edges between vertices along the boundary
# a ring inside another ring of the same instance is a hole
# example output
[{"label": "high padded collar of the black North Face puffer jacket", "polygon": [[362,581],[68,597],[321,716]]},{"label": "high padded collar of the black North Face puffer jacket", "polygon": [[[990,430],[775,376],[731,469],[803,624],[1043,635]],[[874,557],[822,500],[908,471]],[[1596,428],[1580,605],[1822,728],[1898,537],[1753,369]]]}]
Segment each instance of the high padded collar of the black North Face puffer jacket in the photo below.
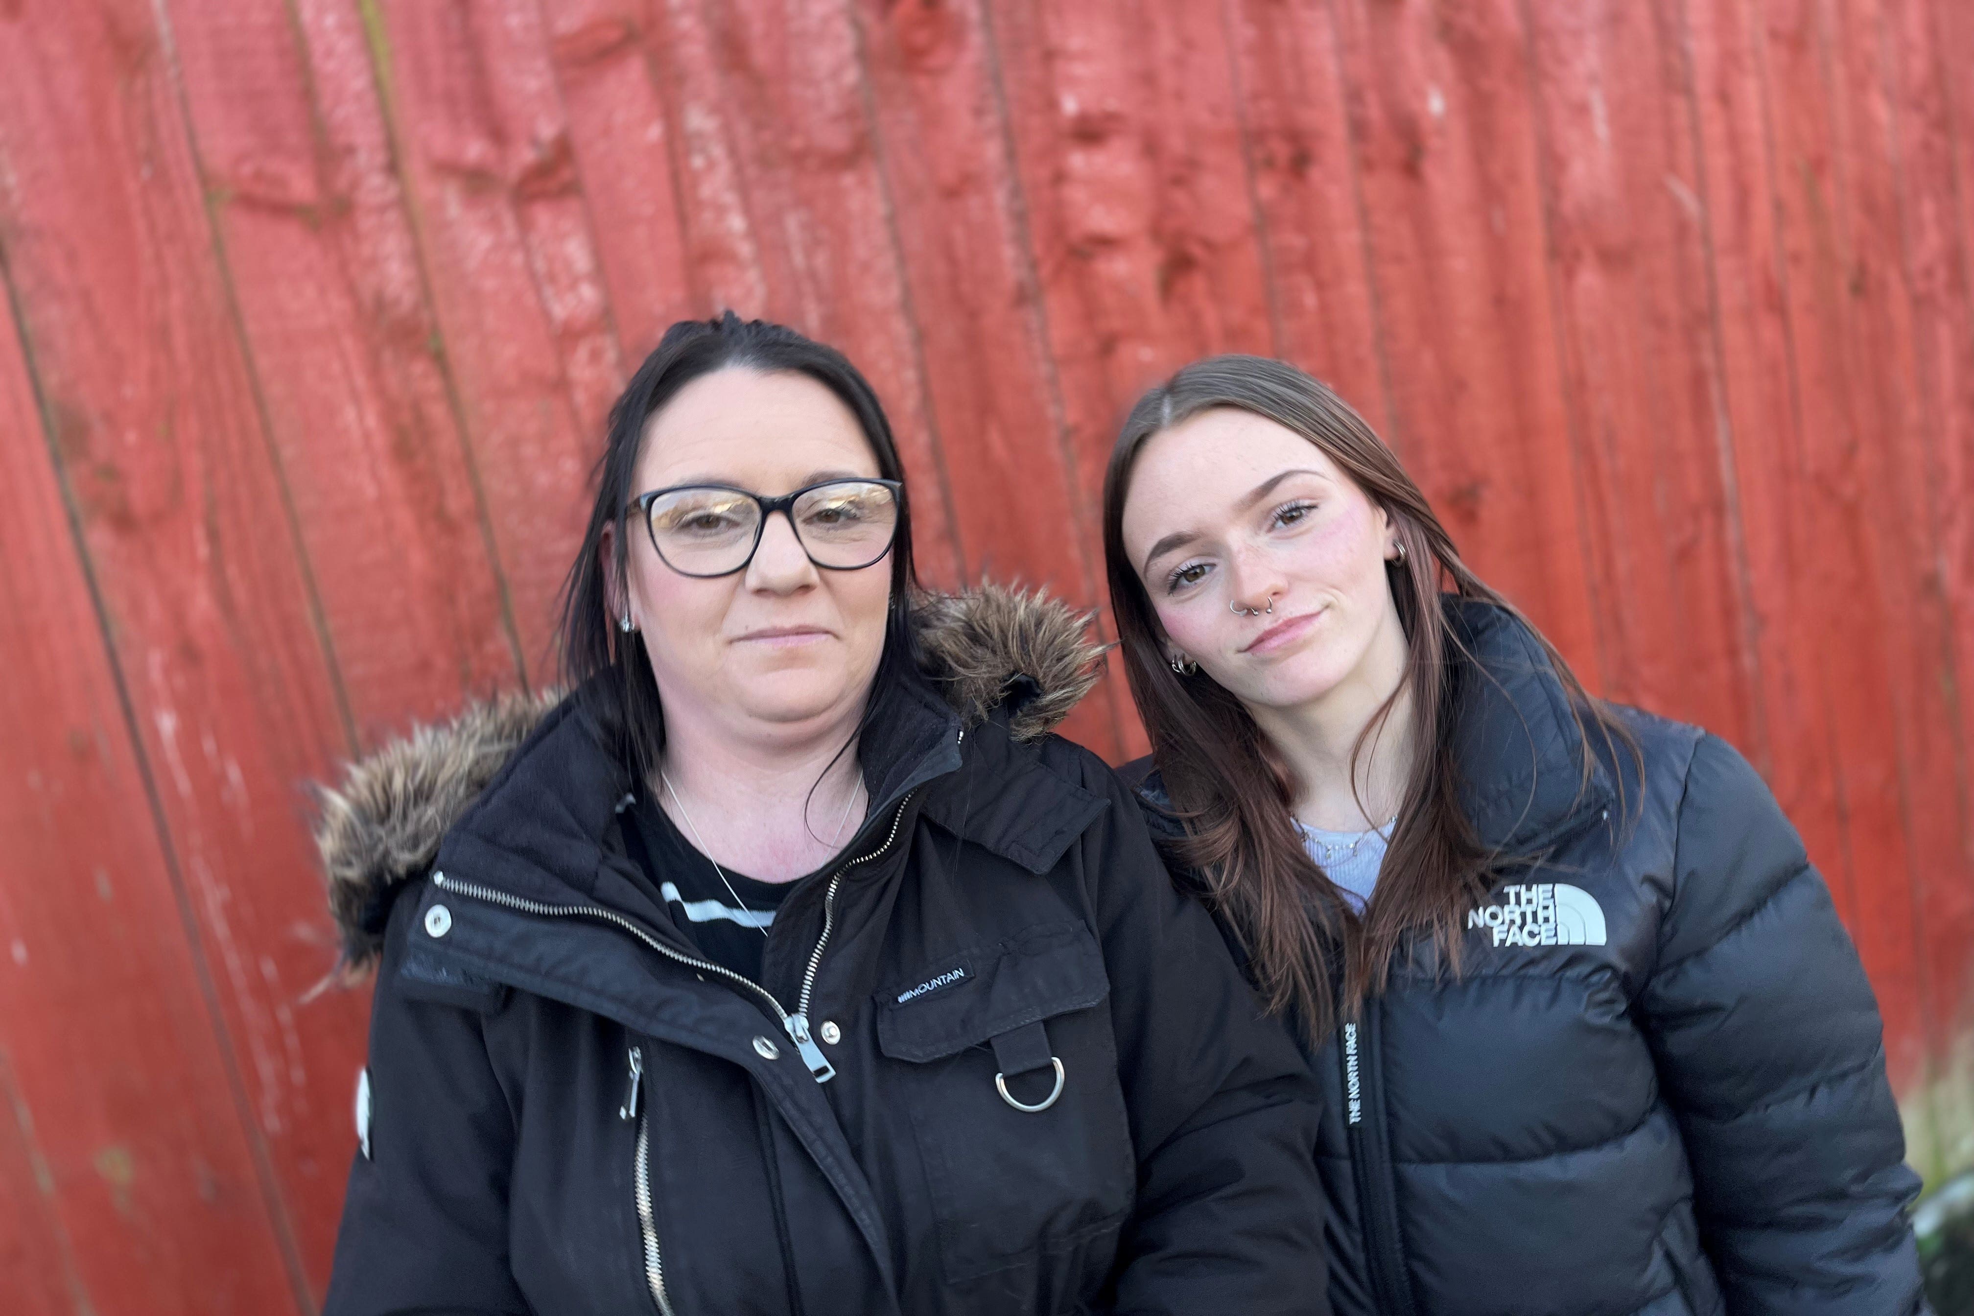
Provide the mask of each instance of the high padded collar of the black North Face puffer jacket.
[{"label": "high padded collar of the black North Face puffer jacket", "polygon": [[[1461,805],[1484,848],[1534,854],[1611,807],[1611,766],[1585,742],[1556,665],[1526,621],[1451,594],[1443,606],[1461,645],[1447,659]],[[1151,805],[1155,833],[1184,833],[1159,771],[1149,771],[1137,793]]]}]

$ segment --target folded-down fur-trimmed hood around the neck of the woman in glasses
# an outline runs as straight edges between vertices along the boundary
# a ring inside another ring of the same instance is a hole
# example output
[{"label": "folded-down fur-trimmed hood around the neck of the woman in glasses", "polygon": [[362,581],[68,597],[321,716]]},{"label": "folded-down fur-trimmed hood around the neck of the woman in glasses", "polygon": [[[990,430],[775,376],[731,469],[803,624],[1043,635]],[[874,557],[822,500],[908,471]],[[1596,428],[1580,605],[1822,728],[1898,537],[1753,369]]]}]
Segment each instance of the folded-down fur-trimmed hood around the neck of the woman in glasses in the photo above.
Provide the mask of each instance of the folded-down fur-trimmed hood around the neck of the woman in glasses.
[{"label": "folded-down fur-trimmed hood around the neck of the woman in glasses", "polygon": [[[922,596],[912,612],[918,679],[880,693],[886,702],[861,746],[873,799],[867,829],[888,825],[898,803],[928,781],[977,785],[979,771],[959,769],[989,758],[999,762],[999,777],[1015,773],[997,781],[995,797],[1046,799],[1030,775],[1046,769],[1023,746],[1046,736],[1096,685],[1103,649],[1088,637],[1088,621],[1042,594],[997,586]],[[973,746],[961,754],[965,738]],[[1064,783],[1052,779],[1060,795]],[[1032,789],[999,789],[1017,781]],[[432,868],[440,844],[444,864],[499,872],[515,894],[594,894],[602,872],[620,862],[606,839],[630,785],[626,766],[592,734],[578,700],[553,695],[476,704],[353,764],[342,783],[320,791],[316,825],[342,973],[355,977],[375,965],[391,902]],[[965,791],[936,789],[926,807],[948,831],[1028,866],[1066,821],[1056,817],[1064,813],[1058,801],[1040,819],[1050,833],[1042,837],[1032,811],[969,813],[963,799]]]}]

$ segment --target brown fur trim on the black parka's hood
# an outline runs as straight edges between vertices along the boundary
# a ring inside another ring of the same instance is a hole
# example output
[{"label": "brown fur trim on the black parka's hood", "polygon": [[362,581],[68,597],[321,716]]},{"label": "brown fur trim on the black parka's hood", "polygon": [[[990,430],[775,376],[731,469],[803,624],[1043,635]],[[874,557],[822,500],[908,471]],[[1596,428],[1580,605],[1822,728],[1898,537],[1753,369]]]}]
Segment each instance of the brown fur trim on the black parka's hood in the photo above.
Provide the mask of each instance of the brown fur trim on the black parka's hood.
[{"label": "brown fur trim on the black parka's hood", "polygon": [[[924,594],[912,608],[920,669],[961,722],[1007,704],[1015,740],[1038,740],[1101,675],[1090,614],[1040,592],[979,586]],[[561,693],[503,695],[438,726],[417,726],[351,764],[318,793],[316,848],[342,939],[340,977],[377,961],[371,914],[389,888],[422,876],[438,842],[527,740]]]}]

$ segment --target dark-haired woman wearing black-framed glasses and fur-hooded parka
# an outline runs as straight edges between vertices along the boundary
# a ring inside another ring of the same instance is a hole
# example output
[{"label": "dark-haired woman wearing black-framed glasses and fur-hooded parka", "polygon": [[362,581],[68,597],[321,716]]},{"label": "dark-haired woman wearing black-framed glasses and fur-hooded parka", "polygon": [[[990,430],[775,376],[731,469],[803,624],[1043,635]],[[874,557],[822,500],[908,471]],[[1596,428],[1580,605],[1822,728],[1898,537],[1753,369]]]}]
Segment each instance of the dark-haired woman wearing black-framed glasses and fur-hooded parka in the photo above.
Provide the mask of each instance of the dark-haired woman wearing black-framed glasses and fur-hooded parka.
[{"label": "dark-haired woman wearing black-framed glasses and fur-hooded parka", "polygon": [[377,965],[326,1312],[1325,1312],[1313,1091],[1109,769],[1084,620],[918,598],[835,351],[673,326],[574,693],[357,766]]}]

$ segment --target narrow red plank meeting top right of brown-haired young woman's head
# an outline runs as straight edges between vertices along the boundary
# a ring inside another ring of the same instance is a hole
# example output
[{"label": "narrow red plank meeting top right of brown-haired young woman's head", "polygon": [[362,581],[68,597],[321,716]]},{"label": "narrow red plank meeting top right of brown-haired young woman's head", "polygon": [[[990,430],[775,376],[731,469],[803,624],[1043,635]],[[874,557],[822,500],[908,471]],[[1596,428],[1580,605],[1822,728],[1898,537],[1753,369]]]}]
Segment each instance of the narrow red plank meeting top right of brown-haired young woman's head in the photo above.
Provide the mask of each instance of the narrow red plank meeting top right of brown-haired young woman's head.
[{"label": "narrow red plank meeting top right of brown-haired young woman's head", "polygon": [[1392,343],[1370,278],[1336,24],[1323,0],[1228,0],[1226,12],[1281,324],[1277,351],[1396,440]]}]

